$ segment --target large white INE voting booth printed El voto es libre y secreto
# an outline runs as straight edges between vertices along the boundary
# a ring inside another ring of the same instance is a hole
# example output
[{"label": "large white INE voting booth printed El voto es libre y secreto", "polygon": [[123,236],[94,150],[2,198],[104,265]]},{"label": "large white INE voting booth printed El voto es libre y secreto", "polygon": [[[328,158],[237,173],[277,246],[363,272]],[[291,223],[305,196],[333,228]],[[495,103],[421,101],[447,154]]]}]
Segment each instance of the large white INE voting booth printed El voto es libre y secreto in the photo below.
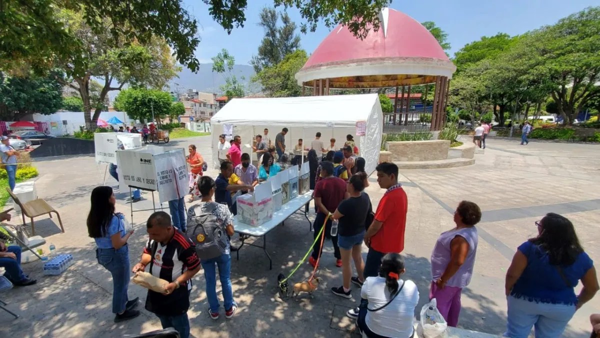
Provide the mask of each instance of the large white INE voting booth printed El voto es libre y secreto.
[{"label": "large white INE voting booth printed El voto es libre y secreto", "polygon": [[188,192],[188,171],[182,148],[146,146],[118,150],[121,170],[119,189],[128,187],[158,191],[160,203],[184,197]]}]

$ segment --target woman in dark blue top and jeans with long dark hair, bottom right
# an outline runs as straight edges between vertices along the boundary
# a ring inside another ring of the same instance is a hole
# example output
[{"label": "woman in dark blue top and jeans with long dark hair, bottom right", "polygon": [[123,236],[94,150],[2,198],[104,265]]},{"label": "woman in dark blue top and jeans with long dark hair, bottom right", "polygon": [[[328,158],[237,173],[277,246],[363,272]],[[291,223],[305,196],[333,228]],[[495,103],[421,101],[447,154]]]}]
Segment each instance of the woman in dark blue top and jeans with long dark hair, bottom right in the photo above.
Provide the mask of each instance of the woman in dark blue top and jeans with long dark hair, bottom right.
[{"label": "woman in dark blue top and jeans with long dark hair, bottom right", "polygon": [[[571,221],[547,214],[539,235],[518,247],[506,272],[508,322],[505,337],[560,337],[575,311],[598,291],[592,259],[579,244]],[[581,280],[583,289],[575,296]]]}]

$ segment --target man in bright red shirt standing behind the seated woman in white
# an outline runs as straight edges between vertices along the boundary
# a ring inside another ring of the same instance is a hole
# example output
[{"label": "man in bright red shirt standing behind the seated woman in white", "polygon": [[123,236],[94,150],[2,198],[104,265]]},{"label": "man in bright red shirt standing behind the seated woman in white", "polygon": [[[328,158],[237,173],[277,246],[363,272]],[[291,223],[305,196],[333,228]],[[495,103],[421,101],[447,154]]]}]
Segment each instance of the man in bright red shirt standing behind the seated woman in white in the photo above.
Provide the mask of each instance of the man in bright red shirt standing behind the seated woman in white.
[{"label": "man in bright red shirt standing behind the seated woman in white", "polygon": [[[352,277],[352,283],[362,286],[367,277],[379,274],[381,259],[387,253],[401,253],[404,250],[404,230],[408,200],[402,185],[398,183],[398,166],[383,162],[375,168],[377,183],[387,189],[377,205],[375,218],[365,233],[365,244],[369,248],[363,278]],[[350,318],[358,317],[358,307],[346,312]]]}]

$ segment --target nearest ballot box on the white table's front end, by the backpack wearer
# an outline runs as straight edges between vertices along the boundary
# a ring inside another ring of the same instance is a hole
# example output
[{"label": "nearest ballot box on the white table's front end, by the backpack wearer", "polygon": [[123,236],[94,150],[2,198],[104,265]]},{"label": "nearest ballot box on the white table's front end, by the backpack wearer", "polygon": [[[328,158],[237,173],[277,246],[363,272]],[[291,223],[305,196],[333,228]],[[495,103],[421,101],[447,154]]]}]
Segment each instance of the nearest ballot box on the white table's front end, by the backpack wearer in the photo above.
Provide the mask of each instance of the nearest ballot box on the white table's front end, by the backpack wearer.
[{"label": "nearest ballot box on the white table's front end, by the backpack wearer", "polygon": [[241,195],[238,200],[238,221],[260,226],[273,218],[273,198],[270,184],[259,184],[254,192]]}]

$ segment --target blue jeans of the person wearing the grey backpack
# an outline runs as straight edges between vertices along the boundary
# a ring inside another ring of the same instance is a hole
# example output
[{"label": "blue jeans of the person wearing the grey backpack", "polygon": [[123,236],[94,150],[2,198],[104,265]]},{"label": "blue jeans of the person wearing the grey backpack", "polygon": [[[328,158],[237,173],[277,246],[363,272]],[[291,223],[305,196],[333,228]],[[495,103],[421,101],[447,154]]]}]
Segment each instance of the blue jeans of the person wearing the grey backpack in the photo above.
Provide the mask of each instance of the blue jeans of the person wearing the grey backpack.
[{"label": "blue jeans of the person wearing the grey backpack", "polygon": [[217,298],[217,271],[219,268],[219,280],[223,288],[223,307],[230,310],[233,307],[233,290],[231,288],[231,255],[224,254],[217,258],[202,260],[204,279],[206,280],[206,298],[211,312],[217,313],[220,307]]}]

